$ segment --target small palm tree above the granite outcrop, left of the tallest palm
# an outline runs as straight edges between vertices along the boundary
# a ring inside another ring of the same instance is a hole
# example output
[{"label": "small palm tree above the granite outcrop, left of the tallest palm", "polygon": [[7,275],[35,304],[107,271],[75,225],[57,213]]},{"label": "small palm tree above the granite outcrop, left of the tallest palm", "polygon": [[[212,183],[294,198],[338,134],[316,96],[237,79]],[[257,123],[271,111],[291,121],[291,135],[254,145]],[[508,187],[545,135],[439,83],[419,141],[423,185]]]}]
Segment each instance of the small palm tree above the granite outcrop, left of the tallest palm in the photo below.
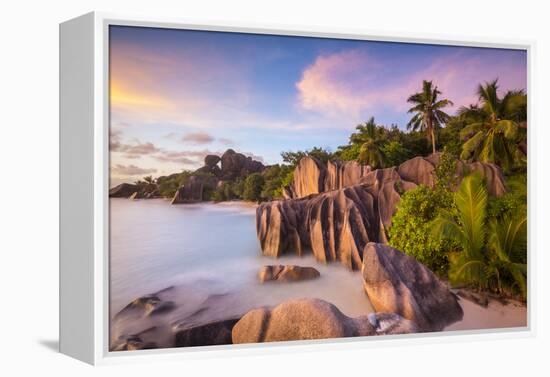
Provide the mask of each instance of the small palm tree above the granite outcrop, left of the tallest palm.
[{"label": "small palm tree above the granite outcrop, left of the tallest palm", "polygon": [[370,165],[373,169],[383,168],[385,156],[382,152],[382,134],[380,127],[376,125],[374,117],[365,124],[356,127],[358,132],[351,134],[350,142],[360,145],[357,160],[362,164]]}]

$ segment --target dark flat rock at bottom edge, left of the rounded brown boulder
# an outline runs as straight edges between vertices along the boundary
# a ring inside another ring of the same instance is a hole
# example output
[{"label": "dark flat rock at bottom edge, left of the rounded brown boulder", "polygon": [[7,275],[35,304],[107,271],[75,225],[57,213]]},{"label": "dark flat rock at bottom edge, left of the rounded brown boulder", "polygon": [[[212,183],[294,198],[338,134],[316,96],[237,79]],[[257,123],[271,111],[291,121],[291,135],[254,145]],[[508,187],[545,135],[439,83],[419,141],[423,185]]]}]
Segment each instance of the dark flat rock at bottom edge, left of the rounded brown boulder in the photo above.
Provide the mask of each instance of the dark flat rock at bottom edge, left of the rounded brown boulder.
[{"label": "dark flat rock at bottom edge, left of the rounded brown boulder", "polygon": [[238,320],[239,318],[231,318],[178,331],[174,347],[231,344],[231,331]]}]

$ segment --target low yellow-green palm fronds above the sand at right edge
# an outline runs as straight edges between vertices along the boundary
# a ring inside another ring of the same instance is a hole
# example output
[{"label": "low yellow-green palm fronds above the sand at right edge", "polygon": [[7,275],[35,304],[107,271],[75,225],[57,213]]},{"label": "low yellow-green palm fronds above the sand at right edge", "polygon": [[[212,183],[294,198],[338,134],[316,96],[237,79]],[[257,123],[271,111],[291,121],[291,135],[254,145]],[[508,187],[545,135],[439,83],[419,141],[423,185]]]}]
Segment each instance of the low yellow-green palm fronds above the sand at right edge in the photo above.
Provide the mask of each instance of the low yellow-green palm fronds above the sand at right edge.
[{"label": "low yellow-green palm fronds above the sand at right edge", "polygon": [[502,293],[516,289],[526,297],[527,217],[487,216],[489,196],[479,174],[462,180],[455,210],[440,210],[432,235],[458,246],[449,249],[449,280]]}]

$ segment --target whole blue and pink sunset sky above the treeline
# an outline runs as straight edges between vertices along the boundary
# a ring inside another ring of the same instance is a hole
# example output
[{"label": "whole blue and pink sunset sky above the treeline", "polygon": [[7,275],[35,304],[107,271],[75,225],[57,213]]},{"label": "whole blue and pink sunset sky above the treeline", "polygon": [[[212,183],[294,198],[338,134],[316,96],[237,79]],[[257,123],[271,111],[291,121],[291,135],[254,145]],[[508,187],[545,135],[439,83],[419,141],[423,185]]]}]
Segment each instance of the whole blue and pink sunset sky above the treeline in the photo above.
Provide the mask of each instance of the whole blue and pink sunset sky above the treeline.
[{"label": "whole blue and pink sunset sky above the treeline", "polygon": [[111,186],[203,165],[228,148],[265,164],[355,126],[405,129],[407,98],[432,80],[454,102],[476,87],[527,87],[525,51],[110,26]]}]

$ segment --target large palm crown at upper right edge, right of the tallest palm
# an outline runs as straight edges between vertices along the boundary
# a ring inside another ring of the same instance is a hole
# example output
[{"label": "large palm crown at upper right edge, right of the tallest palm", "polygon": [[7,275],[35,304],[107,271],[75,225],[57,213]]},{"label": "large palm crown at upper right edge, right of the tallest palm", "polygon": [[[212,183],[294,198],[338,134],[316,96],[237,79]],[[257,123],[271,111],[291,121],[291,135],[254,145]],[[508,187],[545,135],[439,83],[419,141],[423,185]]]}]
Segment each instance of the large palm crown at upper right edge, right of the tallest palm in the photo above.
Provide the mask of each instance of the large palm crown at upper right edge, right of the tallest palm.
[{"label": "large palm crown at upper right edge, right of the tallest palm", "polygon": [[499,98],[498,80],[479,85],[477,94],[479,104],[462,107],[458,112],[466,123],[460,132],[466,140],[460,157],[507,169],[514,163],[518,127],[526,121],[526,96],[523,91],[508,91]]}]

